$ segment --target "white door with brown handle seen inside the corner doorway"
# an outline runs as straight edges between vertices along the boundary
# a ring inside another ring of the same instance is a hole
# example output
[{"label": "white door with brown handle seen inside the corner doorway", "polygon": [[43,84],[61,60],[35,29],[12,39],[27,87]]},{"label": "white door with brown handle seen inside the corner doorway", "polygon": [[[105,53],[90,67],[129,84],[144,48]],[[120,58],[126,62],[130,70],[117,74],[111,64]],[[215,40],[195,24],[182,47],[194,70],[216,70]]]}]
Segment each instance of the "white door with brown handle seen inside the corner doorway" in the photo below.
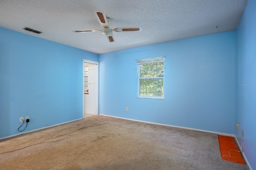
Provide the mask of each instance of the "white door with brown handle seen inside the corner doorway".
[{"label": "white door with brown handle seen inside the corner doorway", "polygon": [[84,63],[84,113],[98,114],[96,111],[96,64]]}]

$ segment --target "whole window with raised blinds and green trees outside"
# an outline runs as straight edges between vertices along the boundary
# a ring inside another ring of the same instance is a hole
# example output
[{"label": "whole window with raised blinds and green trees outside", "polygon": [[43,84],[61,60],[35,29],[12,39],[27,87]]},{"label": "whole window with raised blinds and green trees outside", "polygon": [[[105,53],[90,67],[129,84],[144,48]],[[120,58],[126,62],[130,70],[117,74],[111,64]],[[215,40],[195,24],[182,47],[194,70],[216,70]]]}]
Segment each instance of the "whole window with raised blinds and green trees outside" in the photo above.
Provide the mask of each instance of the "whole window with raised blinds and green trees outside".
[{"label": "whole window with raised blinds and green trees outside", "polygon": [[164,99],[164,57],[137,59],[138,98]]}]

